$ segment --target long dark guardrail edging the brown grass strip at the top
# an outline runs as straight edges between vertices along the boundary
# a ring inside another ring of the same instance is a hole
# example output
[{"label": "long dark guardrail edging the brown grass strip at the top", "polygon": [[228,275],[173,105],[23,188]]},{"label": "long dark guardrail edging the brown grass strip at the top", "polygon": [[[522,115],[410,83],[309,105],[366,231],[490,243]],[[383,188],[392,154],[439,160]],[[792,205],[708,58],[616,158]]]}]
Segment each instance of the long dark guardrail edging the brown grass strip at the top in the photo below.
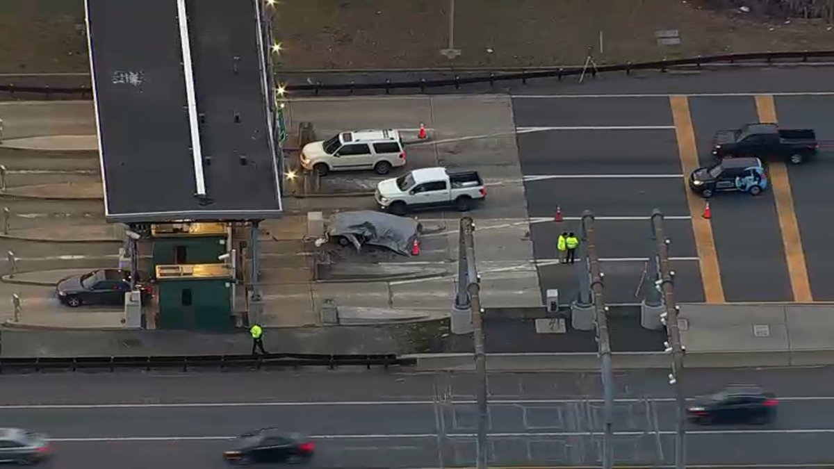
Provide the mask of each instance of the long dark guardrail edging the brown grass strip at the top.
[{"label": "long dark guardrail edging the brown grass strip at the top", "polygon": [[[612,73],[625,72],[630,74],[636,70],[660,70],[666,71],[669,68],[694,66],[700,68],[702,65],[709,65],[711,63],[774,63],[776,61],[799,61],[800,63],[808,62],[812,59],[834,58],[834,50],[824,51],[799,51],[799,52],[764,52],[764,53],[728,53],[722,55],[712,55],[707,57],[694,58],[676,58],[673,60],[658,60],[655,62],[641,62],[641,63],[620,63],[613,65],[601,65],[595,68],[553,68],[547,70],[536,69],[535,71],[525,71],[521,68],[517,73],[488,73],[475,77],[460,77],[455,75],[454,78],[433,79],[411,81],[391,81],[389,79],[384,82],[373,83],[288,83],[286,89],[288,92],[313,92],[318,94],[321,91],[354,91],[361,90],[384,90],[389,93],[392,89],[417,89],[420,93],[425,93],[427,88],[443,88],[455,87],[460,89],[463,85],[475,83],[490,83],[494,85],[496,82],[507,81],[521,81],[526,84],[527,80],[535,78],[565,78],[570,76],[580,76],[582,73],[590,74],[595,77],[597,73]],[[454,73],[454,72],[453,72]],[[80,98],[92,97],[92,90],[89,86],[84,85],[80,87],[48,87],[48,86],[17,86],[13,83],[0,83],[0,93],[15,93],[27,94],[43,94],[45,98],[68,98],[77,96]]]}]

